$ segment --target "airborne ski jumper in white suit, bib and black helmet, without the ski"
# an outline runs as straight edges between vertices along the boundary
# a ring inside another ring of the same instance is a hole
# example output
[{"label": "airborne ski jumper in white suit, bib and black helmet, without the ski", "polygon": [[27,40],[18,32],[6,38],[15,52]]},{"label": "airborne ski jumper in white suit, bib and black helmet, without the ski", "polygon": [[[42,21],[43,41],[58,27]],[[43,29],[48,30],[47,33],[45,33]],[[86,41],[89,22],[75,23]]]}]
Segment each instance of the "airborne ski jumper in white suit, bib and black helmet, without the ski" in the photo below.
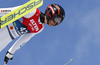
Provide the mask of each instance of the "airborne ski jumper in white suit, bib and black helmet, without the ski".
[{"label": "airborne ski jumper in white suit, bib and black helmet, without the ski", "polygon": [[[4,16],[18,7],[20,6],[13,8],[1,8],[0,16]],[[12,40],[21,35],[21,37],[7,51],[4,59],[4,65],[7,65],[9,59],[12,60],[13,54],[16,50],[23,46],[34,35],[40,33],[43,30],[44,24],[48,24],[50,27],[56,26],[63,21],[64,17],[64,9],[58,4],[51,4],[48,5],[45,14],[40,12],[39,9],[35,9],[22,18],[0,29],[0,52]]]}]

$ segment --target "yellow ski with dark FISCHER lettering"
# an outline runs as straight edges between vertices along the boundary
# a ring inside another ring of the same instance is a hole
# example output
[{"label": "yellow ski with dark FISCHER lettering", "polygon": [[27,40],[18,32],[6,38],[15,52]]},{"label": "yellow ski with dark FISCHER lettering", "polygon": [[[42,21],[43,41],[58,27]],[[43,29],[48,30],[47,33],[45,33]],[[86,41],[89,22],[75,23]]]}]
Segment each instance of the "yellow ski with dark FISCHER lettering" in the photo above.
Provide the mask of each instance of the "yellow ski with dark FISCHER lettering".
[{"label": "yellow ski with dark FISCHER lettering", "polygon": [[43,5],[43,0],[30,0],[0,18],[0,29]]}]

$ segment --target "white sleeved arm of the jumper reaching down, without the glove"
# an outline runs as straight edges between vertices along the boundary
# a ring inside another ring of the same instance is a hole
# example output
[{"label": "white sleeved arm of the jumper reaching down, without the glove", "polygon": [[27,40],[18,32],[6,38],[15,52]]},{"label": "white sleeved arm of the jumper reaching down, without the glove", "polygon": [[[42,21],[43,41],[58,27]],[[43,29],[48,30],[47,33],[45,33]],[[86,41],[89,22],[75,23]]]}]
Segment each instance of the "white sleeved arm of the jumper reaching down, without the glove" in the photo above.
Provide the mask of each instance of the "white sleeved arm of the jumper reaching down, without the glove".
[{"label": "white sleeved arm of the jumper reaching down, without the glove", "polygon": [[8,50],[11,54],[14,54],[16,50],[22,47],[27,41],[29,41],[36,33],[23,34]]}]

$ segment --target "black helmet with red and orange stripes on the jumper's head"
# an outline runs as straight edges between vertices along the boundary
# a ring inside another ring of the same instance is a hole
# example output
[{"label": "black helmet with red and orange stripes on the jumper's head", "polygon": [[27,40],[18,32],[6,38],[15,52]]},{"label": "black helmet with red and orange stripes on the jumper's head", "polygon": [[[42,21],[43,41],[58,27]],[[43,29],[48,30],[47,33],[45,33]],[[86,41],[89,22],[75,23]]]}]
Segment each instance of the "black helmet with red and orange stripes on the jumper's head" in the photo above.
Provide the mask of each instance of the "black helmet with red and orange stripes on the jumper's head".
[{"label": "black helmet with red and orange stripes on the jumper's head", "polygon": [[49,20],[53,19],[54,22],[60,24],[64,17],[65,17],[65,11],[64,9],[58,5],[58,4],[51,4],[48,5],[46,11],[45,11],[46,19],[47,19],[47,24],[49,24]]}]

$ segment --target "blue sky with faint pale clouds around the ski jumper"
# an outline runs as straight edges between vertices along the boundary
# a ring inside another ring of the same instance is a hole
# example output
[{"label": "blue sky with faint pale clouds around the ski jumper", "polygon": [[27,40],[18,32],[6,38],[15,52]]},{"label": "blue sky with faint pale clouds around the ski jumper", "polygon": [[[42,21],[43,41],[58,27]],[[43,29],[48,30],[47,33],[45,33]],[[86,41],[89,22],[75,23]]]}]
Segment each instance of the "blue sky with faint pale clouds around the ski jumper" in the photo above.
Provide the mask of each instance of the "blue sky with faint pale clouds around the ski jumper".
[{"label": "blue sky with faint pale clouds around the ski jumper", "polygon": [[[0,8],[22,5],[29,0],[0,0]],[[100,65],[100,0],[43,0],[45,12],[52,3],[61,5],[65,19],[59,26],[49,27],[34,36],[14,54],[8,65]],[[18,39],[18,38],[17,38]],[[6,51],[0,52],[3,65]]]}]

